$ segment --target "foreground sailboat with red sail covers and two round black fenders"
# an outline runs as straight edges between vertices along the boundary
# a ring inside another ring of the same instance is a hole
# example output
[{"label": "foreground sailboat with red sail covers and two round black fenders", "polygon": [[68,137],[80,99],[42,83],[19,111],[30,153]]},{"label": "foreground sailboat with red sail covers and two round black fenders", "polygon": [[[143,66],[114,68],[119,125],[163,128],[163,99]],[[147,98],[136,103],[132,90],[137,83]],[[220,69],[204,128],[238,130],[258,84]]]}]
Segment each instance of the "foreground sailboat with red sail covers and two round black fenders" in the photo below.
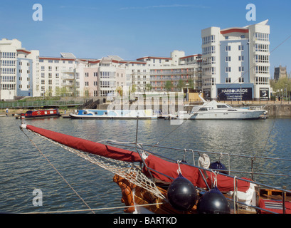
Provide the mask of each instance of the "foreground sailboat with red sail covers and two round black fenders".
[{"label": "foreground sailboat with red sail covers and two round black fenders", "polygon": [[[127,213],[290,214],[291,191],[231,175],[220,161],[199,153],[199,165],[147,150],[153,145],[108,141],[105,145],[33,125],[21,130],[40,135],[107,171],[121,190]],[[158,146],[158,145],[157,145]],[[121,147],[127,147],[123,149]],[[182,150],[158,146],[163,150]]]}]

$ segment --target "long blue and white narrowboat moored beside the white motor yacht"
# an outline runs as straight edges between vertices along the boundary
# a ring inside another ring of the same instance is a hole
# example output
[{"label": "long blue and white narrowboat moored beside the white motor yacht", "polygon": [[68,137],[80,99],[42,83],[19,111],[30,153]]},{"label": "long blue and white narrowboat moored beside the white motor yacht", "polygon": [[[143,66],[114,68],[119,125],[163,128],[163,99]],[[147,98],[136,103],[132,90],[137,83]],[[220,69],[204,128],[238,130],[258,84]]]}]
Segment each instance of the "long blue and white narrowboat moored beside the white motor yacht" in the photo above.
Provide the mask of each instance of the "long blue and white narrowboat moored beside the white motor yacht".
[{"label": "long blue and white narrowboat moored beside the white motor yacht", "polygon": [[152,109],[147,110],[99,110],[83,109],[70,113],[72,119],[157,119]]}]

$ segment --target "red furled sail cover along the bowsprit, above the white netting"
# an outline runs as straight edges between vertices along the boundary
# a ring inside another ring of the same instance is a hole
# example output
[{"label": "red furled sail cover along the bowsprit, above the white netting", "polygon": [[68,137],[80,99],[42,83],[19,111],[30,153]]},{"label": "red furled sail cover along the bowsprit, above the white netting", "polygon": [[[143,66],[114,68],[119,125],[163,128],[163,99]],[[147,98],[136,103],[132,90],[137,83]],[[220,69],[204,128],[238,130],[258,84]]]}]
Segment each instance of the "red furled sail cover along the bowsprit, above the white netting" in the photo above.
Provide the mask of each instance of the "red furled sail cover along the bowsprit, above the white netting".
[{"label": "red furled sail cover along the bowsprit, above the white netting", "polygon": [[122,160],[125,162],[142,162],[142,159],[139,157],[137,152],[111,147],[98,142],[92,142],[62,133],[56,133],[51,130],[36,128],[31,125],[26,125],[26,129],[32,130],[35,133],[43,135],[46,138],[50,138],[51,140],[59,142],[60,144],[72,147],[76,150],[82,150],[95,155],[110,157],[112,159]]}]

